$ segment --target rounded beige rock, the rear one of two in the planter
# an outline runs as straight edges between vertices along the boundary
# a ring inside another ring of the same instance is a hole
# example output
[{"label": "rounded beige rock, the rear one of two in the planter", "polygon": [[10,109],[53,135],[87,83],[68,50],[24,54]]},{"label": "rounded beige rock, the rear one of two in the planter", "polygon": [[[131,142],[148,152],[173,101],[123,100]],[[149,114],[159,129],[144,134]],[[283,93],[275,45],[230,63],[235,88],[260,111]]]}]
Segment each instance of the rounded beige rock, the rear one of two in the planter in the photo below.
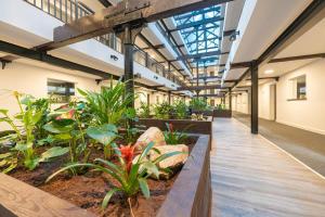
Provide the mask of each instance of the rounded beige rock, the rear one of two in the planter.
[{"label": "rounded beige rock, the rear one of two in the planter", "polygon": [[155,146],[166,145],[165,137],[162,131],[157,127],[151,127],[145,132],[143,132],[136,144],[141,148],[146,146],[150,142],[154,142]]}]

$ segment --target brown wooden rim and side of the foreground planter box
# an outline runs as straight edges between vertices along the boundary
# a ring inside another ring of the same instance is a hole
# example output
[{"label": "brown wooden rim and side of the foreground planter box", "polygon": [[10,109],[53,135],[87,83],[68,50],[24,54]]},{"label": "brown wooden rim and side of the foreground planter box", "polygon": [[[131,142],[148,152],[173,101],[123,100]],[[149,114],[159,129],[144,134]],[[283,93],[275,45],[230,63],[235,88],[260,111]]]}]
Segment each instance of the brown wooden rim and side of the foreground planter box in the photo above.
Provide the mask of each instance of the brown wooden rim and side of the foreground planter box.
[{"label": "brown wooden rim and side of the foreground planter box", "polygon": [[[183,169],[160,209],[158,217],[202,217],[211,214],[209,136],[199,135]],[[94,217],[67,201],[0,174],[0,216],[5,217]]]}]

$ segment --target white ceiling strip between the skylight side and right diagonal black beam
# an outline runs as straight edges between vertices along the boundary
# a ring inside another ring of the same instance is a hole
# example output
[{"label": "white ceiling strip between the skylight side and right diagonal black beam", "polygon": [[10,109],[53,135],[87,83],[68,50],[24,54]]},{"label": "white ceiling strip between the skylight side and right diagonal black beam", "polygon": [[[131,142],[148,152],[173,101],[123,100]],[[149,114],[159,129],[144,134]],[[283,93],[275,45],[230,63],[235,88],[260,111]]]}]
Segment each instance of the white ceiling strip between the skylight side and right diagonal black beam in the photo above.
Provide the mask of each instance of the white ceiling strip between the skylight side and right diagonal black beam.
[{"label": "white ceiling strip between the skylight side and right diagonal black beam", "polygon": [[312,0],[258,0],[233,62],[259,58]]}]

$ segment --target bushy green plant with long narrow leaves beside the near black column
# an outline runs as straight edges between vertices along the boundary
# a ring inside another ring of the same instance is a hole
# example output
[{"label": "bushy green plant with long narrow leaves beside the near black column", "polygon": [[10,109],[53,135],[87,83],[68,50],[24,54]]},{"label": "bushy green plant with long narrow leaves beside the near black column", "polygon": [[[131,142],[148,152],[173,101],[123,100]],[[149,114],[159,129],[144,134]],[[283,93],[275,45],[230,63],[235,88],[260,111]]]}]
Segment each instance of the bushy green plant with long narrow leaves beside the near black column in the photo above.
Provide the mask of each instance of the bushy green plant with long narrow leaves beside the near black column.
[{"label": "bushy green plant with long narrow leaves beside the near black column", "polygon": [[126,94],[126,85],[118,82],[113,88],[102,88],[101,92],[83,91],[78,89],[84,97],[90,114],[96,125],[118,125],[123,113],[132,103],[134,95]]}]

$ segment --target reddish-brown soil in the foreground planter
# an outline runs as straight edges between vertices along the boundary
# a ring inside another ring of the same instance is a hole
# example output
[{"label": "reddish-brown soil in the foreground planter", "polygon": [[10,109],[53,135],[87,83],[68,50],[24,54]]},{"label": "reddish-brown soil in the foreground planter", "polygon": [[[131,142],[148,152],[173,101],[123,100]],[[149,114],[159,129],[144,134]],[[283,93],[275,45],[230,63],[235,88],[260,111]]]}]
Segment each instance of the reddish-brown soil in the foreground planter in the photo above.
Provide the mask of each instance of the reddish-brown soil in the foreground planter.
[{"label": "reddish-brown soil in the foreground planter", "polygon": [[[188,139],[187,144],[190,146],[190,152],[192,151],[195,141],[195,139]],[[93,159],[95,157],[102,157],[102,151],[94,149],[90,158]],[[53,162],[42,163],[32,171],[18,167],[12,171],[10,176],[35,186],[57,197],[69,201],[99,216],[130,216],[129,205],[126,203],[127,200],[122,193],[115,194],[110,199],[106,209],[103,210],[101,208],[102,200],[106,192],[108,192],[113,186],[118,186],[118,183],[106,174],[89,171],[82,176],[70,176],[66,173],[58,175],[53,180],[46,183],[46,179],[64,166],[67,161],[67,156],[65,156],[56,158]],[[117,159],[113,159],[113,162],[116,161]],[[146,200],[141,193],[138,194],[136,199],[132,202],[134,215],[141,217],[156,216],[169,190],[172,188],[178,174],[179,171],[169,180],[148,179],[151,197]]]}]

